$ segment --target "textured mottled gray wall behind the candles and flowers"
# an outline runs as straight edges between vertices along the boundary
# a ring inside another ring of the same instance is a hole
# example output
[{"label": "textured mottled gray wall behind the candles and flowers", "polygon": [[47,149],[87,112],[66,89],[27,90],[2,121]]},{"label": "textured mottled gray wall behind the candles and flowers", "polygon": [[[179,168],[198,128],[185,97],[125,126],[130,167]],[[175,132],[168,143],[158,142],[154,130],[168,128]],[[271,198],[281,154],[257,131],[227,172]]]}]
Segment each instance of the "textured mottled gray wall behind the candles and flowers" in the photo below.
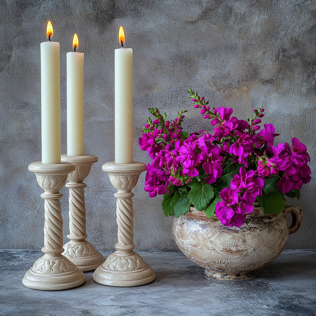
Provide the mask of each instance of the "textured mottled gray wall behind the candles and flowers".
[{"label": "textured mottled gray wall behind the candles and flowers", "polygon": [[[1,247],[43,245],[43,200],[27,165],[41,159],[40,42],[51,20],[60,42],[62,152],[66,152],[66,52],[79,36],[85,53],[85,152],[99,157],[86,179],[87,232],[94,245],[116,242],[114,189],[101,166],[114,156],[114,49],[120,25],[134,53],[134,160],[149,162],[138,145],[147,108],[175,115],[187,108],[188,131],[210,130],[191,108],[193,88],[211,106],[234,108],[237,117],[264,104],[265,123],[298,137],[311,155],[312,182],[301,200],[301,229],[289,248],[316,247],[315,211],[315,1],[4,1],[0,0]],[[137,248],[176,248],[172,218],[161,197],[135,188]],[[64,240],[68,233],[67,190],[62,191]]]}]

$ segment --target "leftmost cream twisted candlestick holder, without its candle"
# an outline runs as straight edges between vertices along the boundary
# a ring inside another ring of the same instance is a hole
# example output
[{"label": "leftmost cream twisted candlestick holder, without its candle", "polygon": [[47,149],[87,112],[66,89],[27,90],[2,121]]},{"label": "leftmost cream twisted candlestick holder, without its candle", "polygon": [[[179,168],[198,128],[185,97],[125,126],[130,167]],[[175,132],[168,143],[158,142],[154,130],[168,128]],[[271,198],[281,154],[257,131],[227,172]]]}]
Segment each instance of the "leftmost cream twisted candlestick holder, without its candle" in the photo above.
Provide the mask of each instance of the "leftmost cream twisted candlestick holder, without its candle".
[{"label": "leftmost cream twisted candlestick holder, without its candle", "polygon": [[44,225],[44,256],[39,258],[26,272],[22,282],[31,289],[63,290],[74,288],[84,283],[86,277],[61,253],[63,249],[63,217],[61,216],[59,190],[64,187],[68,173],[75,166],[62,162],[60,164],[42,164],[33,162],[28,170],[35,173],[38,184],[44,193],[45,225]]}]

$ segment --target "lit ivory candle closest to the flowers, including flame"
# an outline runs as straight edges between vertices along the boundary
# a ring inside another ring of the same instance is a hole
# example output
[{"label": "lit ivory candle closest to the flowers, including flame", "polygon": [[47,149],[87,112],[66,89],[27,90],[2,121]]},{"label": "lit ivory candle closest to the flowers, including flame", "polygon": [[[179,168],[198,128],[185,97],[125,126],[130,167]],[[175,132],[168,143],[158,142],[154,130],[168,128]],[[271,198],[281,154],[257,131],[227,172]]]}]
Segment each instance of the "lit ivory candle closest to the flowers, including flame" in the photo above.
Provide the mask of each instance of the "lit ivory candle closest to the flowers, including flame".
[{"label": "lit ivory candle closest to the flowers, including flame", "polygon": [[114,53],[115,162],[133,163],[133,50],[123,47],[123,27],[119,42],[122,48]]}]

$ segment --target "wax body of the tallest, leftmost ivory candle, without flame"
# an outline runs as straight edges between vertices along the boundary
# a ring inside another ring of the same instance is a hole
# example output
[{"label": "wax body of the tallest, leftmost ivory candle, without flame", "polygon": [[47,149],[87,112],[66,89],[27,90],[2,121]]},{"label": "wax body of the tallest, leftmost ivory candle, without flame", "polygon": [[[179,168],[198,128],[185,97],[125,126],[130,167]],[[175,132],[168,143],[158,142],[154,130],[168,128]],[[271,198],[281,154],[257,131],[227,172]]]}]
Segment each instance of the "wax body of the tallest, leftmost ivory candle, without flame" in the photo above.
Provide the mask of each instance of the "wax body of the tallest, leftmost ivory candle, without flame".
[{"label": "wax body of the tallest, leftmost ivory candle, without flame", "polygon": [[42,163],[60,163],[59,43],[40,44]]}]

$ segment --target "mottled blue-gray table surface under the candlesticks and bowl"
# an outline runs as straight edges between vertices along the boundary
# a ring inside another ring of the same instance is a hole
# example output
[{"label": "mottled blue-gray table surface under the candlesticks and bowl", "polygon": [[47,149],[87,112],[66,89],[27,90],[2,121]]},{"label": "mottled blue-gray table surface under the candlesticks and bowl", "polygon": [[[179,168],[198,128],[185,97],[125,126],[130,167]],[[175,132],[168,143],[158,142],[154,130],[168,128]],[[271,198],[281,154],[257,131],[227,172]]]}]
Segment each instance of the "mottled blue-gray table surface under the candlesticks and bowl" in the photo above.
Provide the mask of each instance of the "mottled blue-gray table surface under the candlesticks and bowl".
[{"label": "mottled blue-gray table surface under the candlesticks and bowl", "polygon": [[[112,251],[104,251],[107,257]],[[35,250],[1,250],[3,316],[269,315],[314,316],[316,250],[284,250],[257,279],[217,281],[179,251],[138,251],[152,266],[150,284],[116,288],[93,281],[63,291],[28,289],[22,278],[41,256]]]}]

